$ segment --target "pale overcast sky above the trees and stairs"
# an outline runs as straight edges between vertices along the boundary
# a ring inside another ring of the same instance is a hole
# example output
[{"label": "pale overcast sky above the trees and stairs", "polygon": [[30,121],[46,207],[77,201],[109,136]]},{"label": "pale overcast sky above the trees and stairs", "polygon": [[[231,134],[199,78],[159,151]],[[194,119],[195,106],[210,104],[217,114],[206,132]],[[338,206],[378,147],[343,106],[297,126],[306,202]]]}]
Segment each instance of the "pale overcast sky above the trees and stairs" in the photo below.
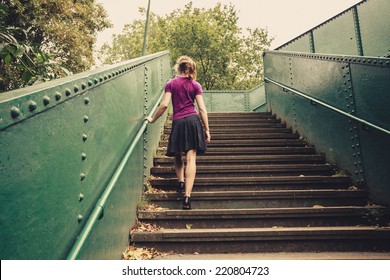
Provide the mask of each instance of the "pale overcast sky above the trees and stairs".
[{"label": "pale overcast sky above the trees and stairs", "polygon": [[[114,24],[101,32],[97,46],[110,42],[112,34],[120,34],[126,23],[140,19],[139,7],[147,7],[148,0],[97,0],[102,3]],[[152,12],[165,16],[174,9],[183,9],[190,0],[151,0]],[[308,31],[361,0],[193,0],[195,7],[211,8],[217,3],[235,6],[239,27],[267,28],[274,37],[271,49]]]}]

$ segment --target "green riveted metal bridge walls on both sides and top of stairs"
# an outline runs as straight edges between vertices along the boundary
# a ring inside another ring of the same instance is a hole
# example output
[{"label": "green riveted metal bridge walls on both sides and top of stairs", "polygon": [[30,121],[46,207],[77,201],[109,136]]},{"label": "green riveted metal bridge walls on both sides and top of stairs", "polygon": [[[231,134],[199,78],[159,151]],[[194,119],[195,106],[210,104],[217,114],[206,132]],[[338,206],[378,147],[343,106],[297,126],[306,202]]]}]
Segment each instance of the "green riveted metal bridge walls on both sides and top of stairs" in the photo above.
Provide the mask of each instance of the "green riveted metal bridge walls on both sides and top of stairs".
[{"label": "green riveted metal bridge walls on both sides and top of stairs", "polygon": [[[361,1],[266,51],[264,84],[206,91],[208,111],[276,115],[390,206],[389,14]],[[0,94],[1,259],[120,259],[168,116],[144,118],[171,77],[160,52]]]}]

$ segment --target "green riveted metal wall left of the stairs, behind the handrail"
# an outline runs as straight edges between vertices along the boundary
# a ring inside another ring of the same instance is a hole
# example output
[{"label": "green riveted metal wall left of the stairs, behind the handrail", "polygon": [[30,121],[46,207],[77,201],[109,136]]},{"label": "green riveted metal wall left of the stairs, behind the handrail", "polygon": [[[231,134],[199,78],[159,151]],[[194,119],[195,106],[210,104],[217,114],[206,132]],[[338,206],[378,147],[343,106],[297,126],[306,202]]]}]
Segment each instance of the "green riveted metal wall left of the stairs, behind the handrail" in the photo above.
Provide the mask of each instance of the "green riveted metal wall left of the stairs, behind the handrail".
[{"label": "green riveted metal wall left of the stairs, behind the handrail", "polygon": [[[152,89],[170,72],[161,69],[162,58],[169,61],[159,53],[0,96],[2,259],[66,257],[142,125],[144,65],[159,65]],[[105,209],[111,218],[101,220],[105,227],[91,239],[99,242],[86,246],[85,256],[106,258],[123,250],[143,169],[141,142]],[[128,215],[115,218],[118,212]],[[110,253],[98,255],[103,251]]]}]

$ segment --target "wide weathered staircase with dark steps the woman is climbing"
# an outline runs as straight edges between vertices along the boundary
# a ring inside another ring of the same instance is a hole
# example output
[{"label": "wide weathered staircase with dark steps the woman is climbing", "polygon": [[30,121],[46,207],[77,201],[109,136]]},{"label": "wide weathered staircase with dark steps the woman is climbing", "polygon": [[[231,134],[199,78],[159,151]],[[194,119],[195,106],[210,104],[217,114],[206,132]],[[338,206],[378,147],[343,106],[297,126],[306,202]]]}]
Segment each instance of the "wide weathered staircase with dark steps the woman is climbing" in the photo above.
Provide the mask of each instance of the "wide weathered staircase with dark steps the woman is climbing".
[{"label": "wide weathered staircase with dark steps the woman is climbing", "polygon": [[[173,159],[162,136],[140,208],[137,247],[162,252],[255,253],[390,250],[387,209],[335,174],[298,134],[271,113],[209,113],[212,142],[198,156],[181,210]],[[144,230],[147,228],[147,230]]]}]

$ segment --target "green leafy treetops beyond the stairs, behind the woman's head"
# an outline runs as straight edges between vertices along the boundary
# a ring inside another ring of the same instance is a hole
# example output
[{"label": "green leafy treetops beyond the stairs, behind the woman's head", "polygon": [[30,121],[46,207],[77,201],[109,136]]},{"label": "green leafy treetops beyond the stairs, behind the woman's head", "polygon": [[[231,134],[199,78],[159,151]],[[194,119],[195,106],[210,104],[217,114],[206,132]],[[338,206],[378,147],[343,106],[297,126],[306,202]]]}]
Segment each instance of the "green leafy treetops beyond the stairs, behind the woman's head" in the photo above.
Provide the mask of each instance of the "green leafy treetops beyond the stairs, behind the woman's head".
[{"label": "green leafy treetops beyond the stairs, behind the woman's head", "polygon": [[[145,15],[145,9],[140,9]],[[248,89],[263,81],[262,52],[272,39],[264,29],[238,27],[232,5],[217,4],[211,9],[184,9],[165,17],[151,13],[147,53],[169,50],[172,63],[181,55],[191,56],[198,65],[198,81],[205,89]],[[99,58],[111,64],[141,55],[145,20],[135,20],[114,35],[112,44],[104,44]]]}]

